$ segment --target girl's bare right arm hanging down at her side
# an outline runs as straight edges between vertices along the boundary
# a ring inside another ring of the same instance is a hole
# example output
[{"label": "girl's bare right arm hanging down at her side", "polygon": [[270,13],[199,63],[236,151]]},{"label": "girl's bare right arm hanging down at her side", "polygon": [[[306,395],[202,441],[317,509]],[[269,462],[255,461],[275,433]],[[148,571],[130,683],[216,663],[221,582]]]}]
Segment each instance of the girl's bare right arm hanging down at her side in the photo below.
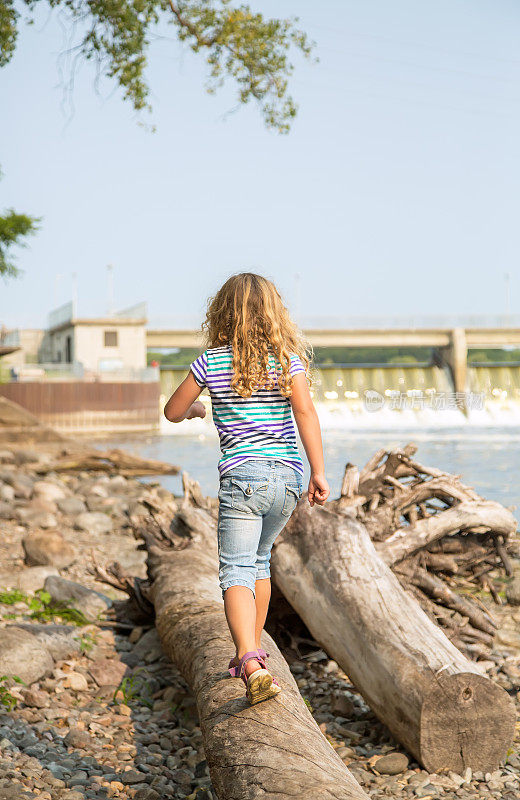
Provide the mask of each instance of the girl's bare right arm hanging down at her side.
[{"label": "girl's bare right arm hanging down at her side", "polygon": [[294,419],[311,469],[307,490],[309,504],[313,506],[314,503],[317,503],[322,506],[330,494],[330,489],[325,478],[320,423],[304,372],[294,375],[290,399]]}]

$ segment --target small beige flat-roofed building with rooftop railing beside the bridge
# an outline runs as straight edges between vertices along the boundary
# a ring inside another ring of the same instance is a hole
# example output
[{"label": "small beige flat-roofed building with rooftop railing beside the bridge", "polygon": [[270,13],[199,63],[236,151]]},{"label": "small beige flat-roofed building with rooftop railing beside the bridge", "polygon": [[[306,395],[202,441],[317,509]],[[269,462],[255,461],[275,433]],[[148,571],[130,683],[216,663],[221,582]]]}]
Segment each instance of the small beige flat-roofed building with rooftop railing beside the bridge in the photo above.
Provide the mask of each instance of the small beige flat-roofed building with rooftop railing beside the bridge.
[{"label": "small beige flat-roofed building with rooftop railing beside the bridge", "polygon": [[146,367],[146,304],[102,318],[76,317],[73,303],[49,315],[39,361],[85,373],[132,373]]}]

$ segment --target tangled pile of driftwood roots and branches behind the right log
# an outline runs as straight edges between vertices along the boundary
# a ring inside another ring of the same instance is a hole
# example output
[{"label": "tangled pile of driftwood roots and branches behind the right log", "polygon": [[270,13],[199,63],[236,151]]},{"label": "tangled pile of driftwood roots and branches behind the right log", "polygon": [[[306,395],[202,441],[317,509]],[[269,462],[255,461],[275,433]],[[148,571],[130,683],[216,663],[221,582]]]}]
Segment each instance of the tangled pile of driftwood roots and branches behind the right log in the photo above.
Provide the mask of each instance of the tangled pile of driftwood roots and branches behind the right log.
[{"label": "tangled pile of driftwood roots and branches behind the right log", "polygon": [[363,523],[401,585],[459,649],[489,657],[496,623],[476,592],[502,603],[489,573],[512,574],[516,520],[459,476],[420,464],[416,450],[378,450],[361,471],[347,464],[331,507]]}]

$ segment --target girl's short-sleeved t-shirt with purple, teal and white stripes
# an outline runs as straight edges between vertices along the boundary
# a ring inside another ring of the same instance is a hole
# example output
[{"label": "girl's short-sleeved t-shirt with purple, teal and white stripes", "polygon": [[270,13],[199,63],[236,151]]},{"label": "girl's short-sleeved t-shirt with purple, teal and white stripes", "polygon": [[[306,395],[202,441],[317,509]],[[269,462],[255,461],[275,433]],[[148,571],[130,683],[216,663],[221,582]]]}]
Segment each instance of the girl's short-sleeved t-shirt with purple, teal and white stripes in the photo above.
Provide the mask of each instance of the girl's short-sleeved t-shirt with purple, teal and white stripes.
[{"label": "girl's short-sleeved t-shirt with purple, teal and white stripes", "polygon": [[[231,388],[233,377],[231,345],[211,347],[190,364],[199,386],[207,386],[211,397],[213,422],[220,439],[222,458],[218,471],[223,475],[232,467],[251,459],[276,459],[303,475],[289,398],[278,387],[259,389],[251,397],[241,397]],[[269,364],[276,361],[269,354]],[[291,356],[290,374],[305,372],[298,356]]]}]

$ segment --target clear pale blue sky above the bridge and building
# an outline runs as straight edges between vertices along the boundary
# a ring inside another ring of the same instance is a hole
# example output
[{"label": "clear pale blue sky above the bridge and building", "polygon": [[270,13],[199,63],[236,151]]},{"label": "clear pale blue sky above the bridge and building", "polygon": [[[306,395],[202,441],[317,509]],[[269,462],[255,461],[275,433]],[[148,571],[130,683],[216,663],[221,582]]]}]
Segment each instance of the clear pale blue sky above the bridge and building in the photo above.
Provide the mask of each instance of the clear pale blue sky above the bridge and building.
[{"label": "clear pale blue sky above the bridge and building", "polygon": [[[153,45],[152,134],[85,65],[63,109],[56,14],[22,25],[0,72],[0,208],[43,217],[0,281],[0,323],[148,301],[197,319],[232,272],[274,278],[302,315],[520,311],[518,0],[251,0],[298,13],[317,65],[295,57],[288,136],[175,38]],[[173,36],[173,33],[172,33]],[[145,117],[146,119],[146,117]],[[300,275],[300,291],[294,275]],[[61,277],[57,277],[61,276]]]}]

